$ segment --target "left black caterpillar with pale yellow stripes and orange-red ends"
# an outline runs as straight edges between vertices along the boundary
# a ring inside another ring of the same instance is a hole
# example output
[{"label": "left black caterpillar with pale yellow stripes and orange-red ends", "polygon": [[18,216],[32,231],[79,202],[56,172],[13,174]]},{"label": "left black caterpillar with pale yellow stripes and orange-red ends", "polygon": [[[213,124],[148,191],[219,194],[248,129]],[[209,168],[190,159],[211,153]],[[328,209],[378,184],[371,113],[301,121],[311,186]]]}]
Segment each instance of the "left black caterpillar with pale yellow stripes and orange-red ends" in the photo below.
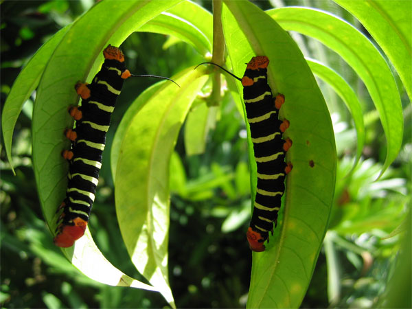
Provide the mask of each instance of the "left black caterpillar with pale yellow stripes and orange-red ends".
[{"label": "left black caterpillar with pale yellow stripes and orange-red ends", "polygon": [[77,82],[74,87],[82,98],[81,106],[69,107],[69,114],[76,124],[75,128],[65,130],[65,136],[71,140],[71,149],[62,151],[62,157],[69,161],[69,173],[66,197],[56,211],[60,214],[54,237],[54,244],[58,247],[73,246],[83,236],[89,222],[106,132],[124,80],[130,76],[163,78],[131,74],[126,69],[123,52],[112,45],[104,49],[103,56],[102,69],[91,84]]}]

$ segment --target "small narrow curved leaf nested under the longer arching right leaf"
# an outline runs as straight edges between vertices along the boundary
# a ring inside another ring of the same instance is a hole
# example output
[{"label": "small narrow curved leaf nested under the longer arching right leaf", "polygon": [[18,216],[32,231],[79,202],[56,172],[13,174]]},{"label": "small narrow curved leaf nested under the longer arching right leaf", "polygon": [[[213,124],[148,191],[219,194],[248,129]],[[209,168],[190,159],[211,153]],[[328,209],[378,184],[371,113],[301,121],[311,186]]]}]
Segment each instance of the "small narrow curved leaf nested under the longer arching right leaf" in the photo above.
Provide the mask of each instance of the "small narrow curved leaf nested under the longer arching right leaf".
[{"label": "small narrow curved leaf nested under the longer arching right leaf", "polygon": [[358,136],[358,150],[356,151],[356,160],[354,162],[355,166],[359,159],[361,159],[362,149],[365,145],[365,125],[363,124],[361,103],[359,103],[358,97],[356,97],[354,90],[338,73],[329,67],[322,65],[316,60],[306,59],[306,61],[308,62],[312,72],[327,82],[330,87],[336,91],[352,113],[356,128],[356,135]]}]

